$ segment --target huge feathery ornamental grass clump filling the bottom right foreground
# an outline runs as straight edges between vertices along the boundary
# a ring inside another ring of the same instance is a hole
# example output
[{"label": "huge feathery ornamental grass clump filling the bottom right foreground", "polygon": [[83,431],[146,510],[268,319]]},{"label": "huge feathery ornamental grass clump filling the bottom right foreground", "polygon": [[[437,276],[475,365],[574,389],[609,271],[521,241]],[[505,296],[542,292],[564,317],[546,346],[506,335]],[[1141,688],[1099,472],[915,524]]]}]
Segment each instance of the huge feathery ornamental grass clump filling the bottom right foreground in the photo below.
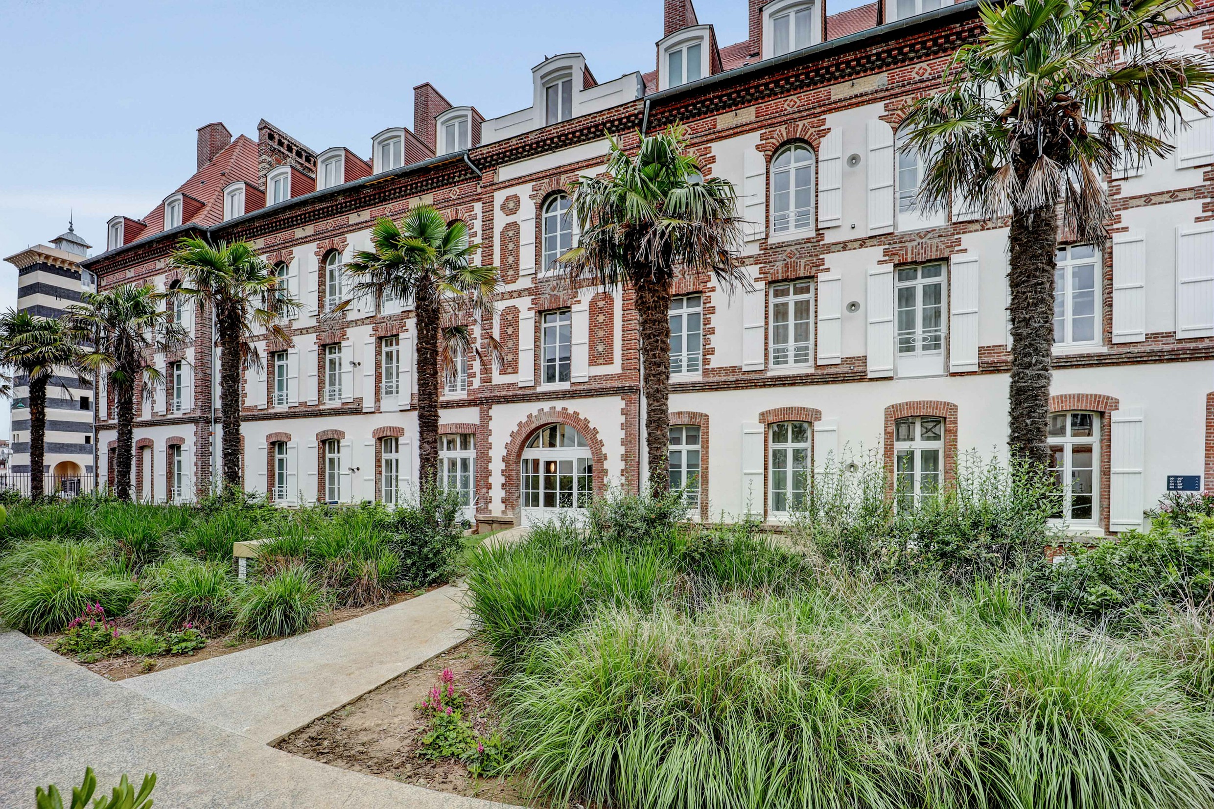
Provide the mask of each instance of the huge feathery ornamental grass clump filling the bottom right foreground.
[{"label": "huge feathery ornamental grass clump filling the bottom right foreground", "polygon": [[992,591],[606,610],[497,699],[560,804],[1180,809],[1214,787],[1214,713],[1168,665]]}]

